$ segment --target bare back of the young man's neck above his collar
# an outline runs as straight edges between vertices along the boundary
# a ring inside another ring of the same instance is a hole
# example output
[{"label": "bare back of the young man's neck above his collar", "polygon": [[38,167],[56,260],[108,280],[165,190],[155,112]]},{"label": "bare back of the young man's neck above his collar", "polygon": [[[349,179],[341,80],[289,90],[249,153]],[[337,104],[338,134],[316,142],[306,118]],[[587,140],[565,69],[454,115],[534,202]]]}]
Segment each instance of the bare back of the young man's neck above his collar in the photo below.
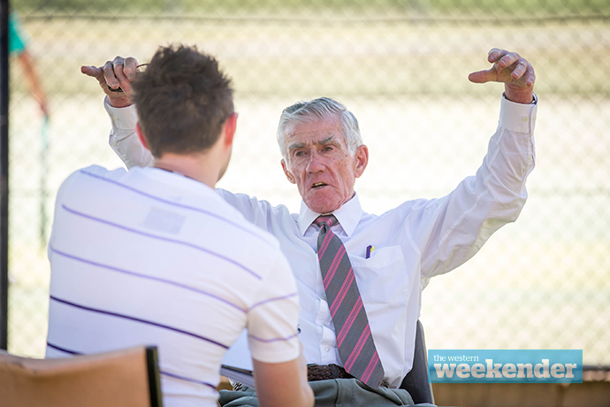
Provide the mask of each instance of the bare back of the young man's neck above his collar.
[{"label": "bare back of the young man's neck above his collar", "polygon": [[153,166],[172,173],[180,173],[193,180],[198,180],[210,188],[216,187],[220,169],[208,154],[174,154],[165,153],[155,158]]}]

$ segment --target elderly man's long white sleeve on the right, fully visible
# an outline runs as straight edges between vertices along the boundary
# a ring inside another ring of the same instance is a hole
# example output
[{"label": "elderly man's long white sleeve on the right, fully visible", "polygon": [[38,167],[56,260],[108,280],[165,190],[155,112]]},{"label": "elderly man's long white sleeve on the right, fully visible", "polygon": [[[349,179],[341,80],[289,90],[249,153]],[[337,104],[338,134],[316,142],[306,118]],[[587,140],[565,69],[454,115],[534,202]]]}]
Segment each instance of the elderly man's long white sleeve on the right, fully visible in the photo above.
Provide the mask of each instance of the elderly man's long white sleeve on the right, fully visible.
[{"label": "elderly man's long white sleeve on the right, fully visible", "polygon": [[[418,230],[423,287],[434,275],[463,264],[489,237],[514,222],[527,199],[525,180],[534,168],[535,104],[502,97],[499,126],[475,176],[449,195],[425,201],[406,227]],[[423,227],[422,227],[423,226]]]}]

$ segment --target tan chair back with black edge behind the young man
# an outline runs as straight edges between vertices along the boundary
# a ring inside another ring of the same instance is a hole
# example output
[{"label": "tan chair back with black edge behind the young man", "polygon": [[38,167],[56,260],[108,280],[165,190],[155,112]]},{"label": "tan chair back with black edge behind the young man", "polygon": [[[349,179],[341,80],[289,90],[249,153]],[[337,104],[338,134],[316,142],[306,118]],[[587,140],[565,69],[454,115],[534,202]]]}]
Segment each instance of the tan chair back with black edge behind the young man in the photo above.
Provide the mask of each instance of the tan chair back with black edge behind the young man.
[{"label": "tan chair back with black edge behind the young man", "polygon": [[57,359],[0,352],[0,404],[163,407],[156,347]]}]

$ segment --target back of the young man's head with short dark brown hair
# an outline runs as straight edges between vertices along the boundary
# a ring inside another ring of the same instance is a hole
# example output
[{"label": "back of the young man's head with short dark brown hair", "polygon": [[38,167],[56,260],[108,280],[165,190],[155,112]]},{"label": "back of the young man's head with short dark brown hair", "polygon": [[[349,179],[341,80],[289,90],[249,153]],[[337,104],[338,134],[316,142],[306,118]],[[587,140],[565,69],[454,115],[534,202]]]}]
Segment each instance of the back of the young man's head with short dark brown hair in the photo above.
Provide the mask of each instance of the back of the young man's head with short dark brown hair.
[{"label": "back of the young man's head with short dark brown hair", "polygon": [[233,113],[231,80],[195,47],[160,47],[133,81],[133,102],[153,157],[190,154],[217,142]]}]

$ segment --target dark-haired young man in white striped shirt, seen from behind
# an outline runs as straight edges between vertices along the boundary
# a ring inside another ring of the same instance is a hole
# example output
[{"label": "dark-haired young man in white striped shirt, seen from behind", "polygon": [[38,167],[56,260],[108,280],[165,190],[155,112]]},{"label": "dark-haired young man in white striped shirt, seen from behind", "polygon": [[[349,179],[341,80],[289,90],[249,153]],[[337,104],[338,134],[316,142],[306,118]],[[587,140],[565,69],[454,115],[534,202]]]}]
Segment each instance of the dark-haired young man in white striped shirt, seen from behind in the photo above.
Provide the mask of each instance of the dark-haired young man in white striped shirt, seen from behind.
[{"label": "dark-haired young man in white striped shirt, seen from behind", "polygon": [[47,356],[156,344],[164,404],[214,406],[248,327],[261,405],[312,405],[286,257],[214,189],[237,120],[230,81],[194,48],[160,48],[133,100],[152,166],[93,165],[57,193]]}]

